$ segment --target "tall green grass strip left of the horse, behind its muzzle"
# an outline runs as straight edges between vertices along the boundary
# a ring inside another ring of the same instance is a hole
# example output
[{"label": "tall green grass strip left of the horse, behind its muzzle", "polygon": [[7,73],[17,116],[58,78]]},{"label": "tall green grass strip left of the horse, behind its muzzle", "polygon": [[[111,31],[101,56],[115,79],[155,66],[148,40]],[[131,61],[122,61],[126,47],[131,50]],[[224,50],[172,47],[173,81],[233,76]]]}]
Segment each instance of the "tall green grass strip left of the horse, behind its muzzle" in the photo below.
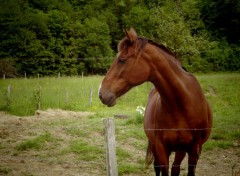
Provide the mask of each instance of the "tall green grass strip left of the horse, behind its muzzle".
[{"label": "tall green grass strip left of the horse, behind its muzzle", "polygon": [[[116,107],[105,107],[98,98],[98,88],[102,78],[91,76],[1,80],[0,110],[19,116],[33,115],[38,109],[40,100],[42,110],[60,108],[73,111],[94,111],[105,116],[120,113],[123,109],[125,113],[131,113],[138,105],[146,104],[149,90],[152,87],[150,83],[133,88],[130,93],[118,100]],[[9,100],[7,99],[8,85],[11,85]]]}]

